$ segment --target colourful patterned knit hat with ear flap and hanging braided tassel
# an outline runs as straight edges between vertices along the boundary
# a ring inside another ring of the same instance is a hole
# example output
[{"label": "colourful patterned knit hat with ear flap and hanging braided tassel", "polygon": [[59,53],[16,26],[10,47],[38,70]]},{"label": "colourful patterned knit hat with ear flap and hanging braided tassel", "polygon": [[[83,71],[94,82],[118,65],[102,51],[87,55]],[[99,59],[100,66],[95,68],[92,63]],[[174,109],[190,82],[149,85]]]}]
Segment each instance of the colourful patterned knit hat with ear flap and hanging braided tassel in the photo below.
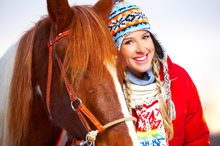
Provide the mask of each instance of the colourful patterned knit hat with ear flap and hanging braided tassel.
[{"label": "colourful patterned knit hat with ear flap and hanging braided tassel", "polygon": [[154,31],[151,29],[147,17],[139,6],[125,2],[124,0],[114,0],[114,6],[109,15],[108,28],[113,36],[115,44],[120,51],[124,38],[131,32],[137,30],[147,30],[152,36],[157,58],[163,65],[164,85],[166,89],[165,101],[168,105],[168,116],[171,122],[175,119],[175,107],[171,100],[170,79],[167,66],[166,49]]}]

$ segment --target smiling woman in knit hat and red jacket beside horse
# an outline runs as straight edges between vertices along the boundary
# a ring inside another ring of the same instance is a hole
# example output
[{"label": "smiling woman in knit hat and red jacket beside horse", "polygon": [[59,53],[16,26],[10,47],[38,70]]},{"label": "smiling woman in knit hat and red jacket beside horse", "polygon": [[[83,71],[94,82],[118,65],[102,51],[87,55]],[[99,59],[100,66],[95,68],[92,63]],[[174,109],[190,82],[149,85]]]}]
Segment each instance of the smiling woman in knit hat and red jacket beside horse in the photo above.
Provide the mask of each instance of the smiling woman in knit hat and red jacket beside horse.
[{"label": "smiling woman in knit hat and red jacket beside horse", "polygon": [[108,27],[127,62],[124,91],[128,108],[138,119],[140,143],[210,145],[193,81],[182,67],[172,63],[141,9],[116,0]]}]

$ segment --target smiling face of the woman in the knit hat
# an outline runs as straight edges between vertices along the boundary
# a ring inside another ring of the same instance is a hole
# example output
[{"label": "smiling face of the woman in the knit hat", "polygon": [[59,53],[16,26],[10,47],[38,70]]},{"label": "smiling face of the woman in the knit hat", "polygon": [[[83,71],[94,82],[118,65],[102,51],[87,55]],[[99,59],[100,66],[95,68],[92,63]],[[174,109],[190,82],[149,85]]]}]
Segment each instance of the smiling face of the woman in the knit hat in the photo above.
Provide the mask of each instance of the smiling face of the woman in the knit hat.
[{"label": "smiling face of the woman in the knit hat", "polygon": [[121,53],[127,62],[127,69],[137,78],[151,67],[155,47],[150,33],[139,30],[125,37],[121,45]]}]

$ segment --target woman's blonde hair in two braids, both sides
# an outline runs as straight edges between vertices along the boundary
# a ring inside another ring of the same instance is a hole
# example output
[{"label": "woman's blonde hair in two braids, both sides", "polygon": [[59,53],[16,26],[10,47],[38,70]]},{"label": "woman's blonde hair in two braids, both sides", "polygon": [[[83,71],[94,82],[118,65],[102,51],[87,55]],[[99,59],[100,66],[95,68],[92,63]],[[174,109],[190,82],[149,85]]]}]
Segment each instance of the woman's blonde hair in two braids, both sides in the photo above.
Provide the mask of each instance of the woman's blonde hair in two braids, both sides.
[{"label": "woman's blonde hair in two braids, both sides", "polygon": [[[162,94],[162,85],[161,85],[161,81],[160,81],[160,74],[159,74],[159,61],[156,57],[156,55],[154,55],[153,60],[152,60],[152,64],[153,64],[153,68],[152,71],[155,75],[155,79],[156,79],[156,85],[159,89],[159,103],[160,103],[160,110],[161,110],[161,116],[162,116],[162,120],[163,120],[163,124],[164,124],[164,128],[166,130],[166,139],[167,140],[171,140],[173,138],[173,124],[172,122],[169,122],[168,120],[168,107],[167,104],[164,100],[163,94]],[[132,89],[131,89],[131,83],[128,79],[128,76],[126,74],[126,72],[124,72],[124,81],[125,81],[125,94],[126,94],[126,101],[127,101],[127,106],[129,109],[129,112],[132,112],[131,109],[131,94],[132,94]]]}]

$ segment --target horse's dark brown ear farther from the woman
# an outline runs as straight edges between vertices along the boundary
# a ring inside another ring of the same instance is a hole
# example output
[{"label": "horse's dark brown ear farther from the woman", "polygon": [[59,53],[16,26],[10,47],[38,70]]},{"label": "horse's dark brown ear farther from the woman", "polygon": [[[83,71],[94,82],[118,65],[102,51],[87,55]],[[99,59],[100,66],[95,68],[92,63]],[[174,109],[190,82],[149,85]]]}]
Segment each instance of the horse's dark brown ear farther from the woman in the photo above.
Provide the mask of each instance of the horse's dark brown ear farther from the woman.
[{"label": "horse's dark brown ear farther from the woman", "polygon": [[47,10],[57,33],[71,24],[72,10],[67,0],[47,0]]}]

